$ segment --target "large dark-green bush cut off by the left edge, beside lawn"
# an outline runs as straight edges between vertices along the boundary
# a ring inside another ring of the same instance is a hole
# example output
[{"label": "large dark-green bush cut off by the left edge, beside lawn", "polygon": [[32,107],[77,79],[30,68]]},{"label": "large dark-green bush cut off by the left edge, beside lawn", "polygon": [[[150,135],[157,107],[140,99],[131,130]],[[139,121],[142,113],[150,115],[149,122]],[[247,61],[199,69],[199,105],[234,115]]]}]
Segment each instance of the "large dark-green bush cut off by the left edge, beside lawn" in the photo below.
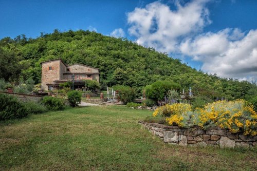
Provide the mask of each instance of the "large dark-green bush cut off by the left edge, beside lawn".
[{"label": "large dark-green bush cut off by the left edge, beside lawn", "polygon": [[0,94],[0,120],[27,117],[29,111],[23,103],[13,96]]}]

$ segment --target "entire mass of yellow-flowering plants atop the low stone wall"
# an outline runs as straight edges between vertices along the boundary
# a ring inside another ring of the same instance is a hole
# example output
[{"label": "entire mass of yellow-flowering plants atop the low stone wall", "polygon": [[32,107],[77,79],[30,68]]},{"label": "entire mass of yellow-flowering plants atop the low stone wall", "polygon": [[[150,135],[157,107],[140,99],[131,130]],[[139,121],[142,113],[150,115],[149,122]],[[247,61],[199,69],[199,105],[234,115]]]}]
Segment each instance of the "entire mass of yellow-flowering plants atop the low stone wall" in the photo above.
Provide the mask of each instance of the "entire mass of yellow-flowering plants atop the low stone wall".
[{"label": "entire mass of yellow-flowering plants atop the low stone wall", "polygon": [[244,100],[217,101],[195,110],[190,104],[166,104],[157,108],[153,116],[165,117],[167,124],[172,126],[200,126],[203,129],[219,126],[232,133],[257,135],[257,113]]}]

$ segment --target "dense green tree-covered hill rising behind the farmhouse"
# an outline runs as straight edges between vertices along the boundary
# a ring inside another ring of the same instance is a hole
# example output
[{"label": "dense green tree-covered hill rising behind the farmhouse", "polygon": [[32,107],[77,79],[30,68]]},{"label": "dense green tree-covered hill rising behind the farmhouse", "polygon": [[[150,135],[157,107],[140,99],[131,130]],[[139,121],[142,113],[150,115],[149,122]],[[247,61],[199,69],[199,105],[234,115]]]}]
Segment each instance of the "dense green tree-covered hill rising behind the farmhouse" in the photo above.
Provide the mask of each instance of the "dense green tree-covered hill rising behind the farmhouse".
[{"label": "dense green tree-covered hill rising behind the farmhouse", "polygon": [[105,87],[116,84],[135,87],[140,92],[157,80],[172,80],[195,95],[208,98],[249,98],[257,95],[255,84],[221,79],[197,71],[179,60],[153,48],[144,48],[132,41],[90,31],[43,34],[27,39],[24,34],[0,41],[0,78],[17,82],[20,78],[41,81],[43,61],[61,58],[65,63],[81,63],[100,69],[100,82]]}]

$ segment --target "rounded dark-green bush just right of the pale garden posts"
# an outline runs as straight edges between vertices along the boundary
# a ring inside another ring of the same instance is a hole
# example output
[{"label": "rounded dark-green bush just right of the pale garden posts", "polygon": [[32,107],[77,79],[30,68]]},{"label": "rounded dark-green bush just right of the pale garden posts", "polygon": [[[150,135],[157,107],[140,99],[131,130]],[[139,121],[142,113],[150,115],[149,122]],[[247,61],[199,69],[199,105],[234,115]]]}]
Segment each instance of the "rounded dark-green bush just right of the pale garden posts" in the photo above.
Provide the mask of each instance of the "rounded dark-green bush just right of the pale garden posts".
[{"label": "rounded dark-green bush just right of the pale garden posts", "polygon": [[134,88],[128,86],[119,86],[116,90],[119,91],[118,99],[120,99],[123,104],[134,102],[136,98],[136,92]]}]

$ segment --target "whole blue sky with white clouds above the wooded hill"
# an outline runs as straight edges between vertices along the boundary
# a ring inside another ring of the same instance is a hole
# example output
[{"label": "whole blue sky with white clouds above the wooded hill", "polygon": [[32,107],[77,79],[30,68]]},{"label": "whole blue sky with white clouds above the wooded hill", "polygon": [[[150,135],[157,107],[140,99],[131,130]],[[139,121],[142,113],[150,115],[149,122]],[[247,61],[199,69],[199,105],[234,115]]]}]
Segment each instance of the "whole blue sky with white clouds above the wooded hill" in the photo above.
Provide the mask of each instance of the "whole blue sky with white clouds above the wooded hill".
[{"label": "whole blue sky with white clouds above the wooded hill", "polygon": [[0,39],[95,30],[217,73],[257,80],[257,1],[3,1]]}]

